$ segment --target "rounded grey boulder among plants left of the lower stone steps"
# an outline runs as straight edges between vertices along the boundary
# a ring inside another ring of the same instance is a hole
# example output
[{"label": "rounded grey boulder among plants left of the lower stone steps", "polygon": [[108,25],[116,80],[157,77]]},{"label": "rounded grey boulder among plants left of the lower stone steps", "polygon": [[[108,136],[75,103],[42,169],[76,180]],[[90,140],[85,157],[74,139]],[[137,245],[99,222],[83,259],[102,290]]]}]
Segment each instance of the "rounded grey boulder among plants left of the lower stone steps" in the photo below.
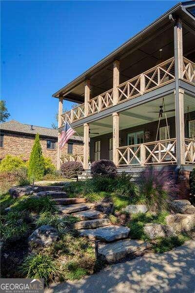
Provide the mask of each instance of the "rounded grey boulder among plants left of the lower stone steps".
[{"label": "rounded grey boulder among plants left of the lower stone steps", "polygon": [[43,225],[28,237],[28,243],[30,245],[49,246],[58,239],[59,234],[56,228]]}]

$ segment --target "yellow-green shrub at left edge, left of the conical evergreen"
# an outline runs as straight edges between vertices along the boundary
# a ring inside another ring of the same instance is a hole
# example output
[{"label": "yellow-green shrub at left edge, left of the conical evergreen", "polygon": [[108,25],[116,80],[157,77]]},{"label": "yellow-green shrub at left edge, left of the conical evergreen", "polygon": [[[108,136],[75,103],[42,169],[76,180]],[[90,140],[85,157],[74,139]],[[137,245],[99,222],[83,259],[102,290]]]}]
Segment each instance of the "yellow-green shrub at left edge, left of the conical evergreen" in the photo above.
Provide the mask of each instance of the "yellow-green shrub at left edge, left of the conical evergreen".
[{"label": "yellow-green shrub at left edge, left of the conical evergreen", "polygon": [[25,167],[25,163],[21,157],[6,155],[0,162],[0,172],[15,171],[21,167]]}]

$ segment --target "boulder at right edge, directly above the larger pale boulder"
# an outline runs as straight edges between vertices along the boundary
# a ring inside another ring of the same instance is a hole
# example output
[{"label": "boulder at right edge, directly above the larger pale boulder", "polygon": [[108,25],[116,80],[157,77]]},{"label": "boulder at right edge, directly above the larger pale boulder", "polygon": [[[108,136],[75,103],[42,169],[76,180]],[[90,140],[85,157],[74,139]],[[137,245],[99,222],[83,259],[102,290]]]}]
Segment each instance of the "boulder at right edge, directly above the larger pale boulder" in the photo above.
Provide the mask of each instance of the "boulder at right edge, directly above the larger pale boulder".
[{"label": "boulder at right edge, directly above the larger pale boulder", "polygon": [[176,213],[195,213],[195,206],[191,205],[189,200],[177,199],[170,202],[171,209]]}]

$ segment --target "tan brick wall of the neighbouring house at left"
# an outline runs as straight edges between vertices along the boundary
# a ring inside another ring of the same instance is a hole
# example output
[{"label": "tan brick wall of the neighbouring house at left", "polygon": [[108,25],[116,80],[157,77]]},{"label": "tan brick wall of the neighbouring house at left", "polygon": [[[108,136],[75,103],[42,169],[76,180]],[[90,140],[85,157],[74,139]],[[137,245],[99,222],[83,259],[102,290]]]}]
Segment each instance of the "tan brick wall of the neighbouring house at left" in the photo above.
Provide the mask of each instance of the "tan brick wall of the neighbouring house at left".
[{"label": "tan brick wall of the neighbouring house at left", "polygon": [[[7,154],[12,156],[21,156],[24,161],[30,157],[30,153],[34,144],[35,136],[25,134],[6,133],[4,134],[3,147],[0,147],[0,159],[3,159]],[[57,148],[48,149],[47,140],[50,138],[40,137],[40,145],[44,157],[49,157],[57,166]],[[57,142],[57,139],[56,139]],[[62,155],[67,154],[68,145],[66,144],[62,149]],[[73,143],[73,154],[83,153],[83,146],[78,142]]]}]

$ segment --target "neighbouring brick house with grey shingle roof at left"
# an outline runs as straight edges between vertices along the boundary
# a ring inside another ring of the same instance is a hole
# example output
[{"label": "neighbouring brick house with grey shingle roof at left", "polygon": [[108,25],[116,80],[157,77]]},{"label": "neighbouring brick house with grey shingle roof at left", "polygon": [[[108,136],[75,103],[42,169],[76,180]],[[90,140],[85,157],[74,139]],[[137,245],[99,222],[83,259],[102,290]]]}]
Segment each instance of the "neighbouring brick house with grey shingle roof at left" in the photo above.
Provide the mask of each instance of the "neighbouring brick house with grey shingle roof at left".
[{"label": "neighbouring brick house with grey shingle roof at left", "polygon": [[[43,156],[52,159],[57,166],[58,130],[53,128],[22,124],[10,120],[0,124],[0,160],[7,154],[21,156],[24,161],[30,157],[35,135],[39,133]],[[83,143],[79,136],[73,135],[62,149],[62,156],[74,158],[83,153]]]}]

